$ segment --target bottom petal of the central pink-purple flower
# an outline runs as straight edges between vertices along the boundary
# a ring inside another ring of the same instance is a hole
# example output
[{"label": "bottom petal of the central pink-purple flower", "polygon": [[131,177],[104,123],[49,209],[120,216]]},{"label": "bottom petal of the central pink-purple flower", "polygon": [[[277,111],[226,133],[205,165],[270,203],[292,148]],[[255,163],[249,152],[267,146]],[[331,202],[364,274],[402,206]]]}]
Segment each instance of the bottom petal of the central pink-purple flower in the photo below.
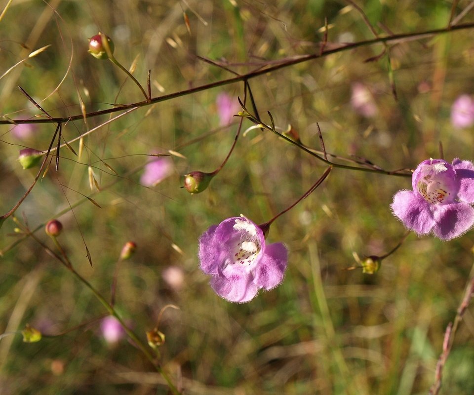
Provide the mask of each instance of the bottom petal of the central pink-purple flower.
[{"label": "bottom petal of the central pink-purple flower", "polygon": [[244,303],[252,300],[259,287],[249,276],[235,274],[229,278],[214,276],[210,281],[212,289],[230,302]]}]

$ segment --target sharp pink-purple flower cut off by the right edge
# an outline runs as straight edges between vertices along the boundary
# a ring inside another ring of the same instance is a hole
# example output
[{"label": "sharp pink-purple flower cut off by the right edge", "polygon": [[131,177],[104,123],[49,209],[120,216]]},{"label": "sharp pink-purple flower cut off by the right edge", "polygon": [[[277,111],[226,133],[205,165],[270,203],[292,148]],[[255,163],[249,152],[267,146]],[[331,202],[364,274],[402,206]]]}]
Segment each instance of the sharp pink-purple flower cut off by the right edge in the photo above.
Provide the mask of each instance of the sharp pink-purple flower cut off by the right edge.
[{"label": "sharp pink-purple flower cut off by the right edge", "polygon": [[441,240],[466,233],[474,224],[474,165],[454,159],[421,162],[413,173],[413,191],[398,191],[395,216],[419,235],[433,232]]}]

